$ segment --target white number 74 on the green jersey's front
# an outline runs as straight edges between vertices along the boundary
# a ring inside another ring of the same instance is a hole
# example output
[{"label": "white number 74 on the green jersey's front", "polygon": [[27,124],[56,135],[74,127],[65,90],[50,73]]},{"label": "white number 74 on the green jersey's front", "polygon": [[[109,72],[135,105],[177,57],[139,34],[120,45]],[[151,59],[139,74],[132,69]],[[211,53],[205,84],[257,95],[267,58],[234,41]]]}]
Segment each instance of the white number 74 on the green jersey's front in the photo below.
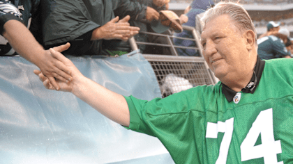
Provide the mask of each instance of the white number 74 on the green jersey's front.
[{"label": "white number 74 on the green jersey's front", "polygon": [[[220,144],[219,157],[216,164],[224,164],[227,161],[227,155],[232,140],[234,118],[226,122],[211,123],[206,127],[206,138],[218,138],[218,132],[225,133]],[[258,136],[261,134],[262,144],[255,146]],[[282,153],[280,140],[275,141],[273,137],[273,108],[263,110],[257,116],[253,126],[241,146],[241,161],[264,157],[265,164],[283,164],[278,162],[277,154]]]}]

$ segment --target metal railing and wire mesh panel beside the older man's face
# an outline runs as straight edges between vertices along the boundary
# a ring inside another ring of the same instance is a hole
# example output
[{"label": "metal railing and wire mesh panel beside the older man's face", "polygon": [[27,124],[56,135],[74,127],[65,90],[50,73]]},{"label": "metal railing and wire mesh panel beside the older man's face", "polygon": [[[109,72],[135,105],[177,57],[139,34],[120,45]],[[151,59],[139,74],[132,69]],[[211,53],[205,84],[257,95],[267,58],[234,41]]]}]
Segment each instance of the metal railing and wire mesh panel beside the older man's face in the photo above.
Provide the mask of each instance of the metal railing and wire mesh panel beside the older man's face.
[{"label": "metal railing and wire mesh panel beside the older man's face", "polygon": [[[183,29],[191,31],[193,33],[193,38],[180,39],[195,41],[195,47],[176,46],[173,44],[172,38],[179,37],[158,33],[147,34],[165,37],[167,44],[153,44],[150,42],[136,42],[134,39],[130,40],[130,45],[133,50],[137,49],[137,44],[148,44],[170,48],[170,55],[143,54],[144,58],[146,58],[153,67],[158,84],[160,85],[162,97],[167,97],[176,92],[187,90],[197,85],[211,85],[217,82],[217,79],[213,76],[213,73],[210,71],[202,57],[202,49],[195,28],[183,26]],[[176,48],[197,49],[200,52],[200,56],[179,56]]]}]

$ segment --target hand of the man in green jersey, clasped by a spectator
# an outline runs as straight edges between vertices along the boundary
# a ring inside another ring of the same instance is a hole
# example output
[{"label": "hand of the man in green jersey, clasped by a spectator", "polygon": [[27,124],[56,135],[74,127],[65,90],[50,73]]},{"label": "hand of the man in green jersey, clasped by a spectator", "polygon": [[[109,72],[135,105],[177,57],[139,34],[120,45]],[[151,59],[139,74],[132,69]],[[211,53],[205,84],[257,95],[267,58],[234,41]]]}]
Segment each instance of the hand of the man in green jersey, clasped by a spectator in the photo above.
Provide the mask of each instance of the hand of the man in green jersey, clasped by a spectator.
[{"label": "hand of the man in green jersey, clasped by a spectator", "polygon": [[54,49],[50,49],[49,51],[52,54],[52,57],[56,58],[61,63],[63,63],[63,65],[66,67],[66,69],[68,69],[68,72],[71,72],[72,81],[66,81],[66,82],[64,82],[64,81],[61,81],[59,79],[56,79],[55,82],[60,87],[60,88],[56,88],[53,85],[52,81],[50,81],[50,79],[48,79],[47,76],[45,76],[39,70],[34,70],[33,73],[35,73],[36,75],[39,76],[40,81],[43,82],[43,85],[48,90],[61,90],[61,91],[65,91],[65,92],[72,92],[73,91],[73,88],[74,88],[74,85],[77,83],[77,81],[81,77],[83,77],[83,75],[80,73],[80,71],[77,69],[77,67],[75,67],[75,65],[73,65],[73,63],[71,62],[71,60],[69,60],[68,58],[66,58],[65,56],[63,56],[59,51],[55,51]]}]

